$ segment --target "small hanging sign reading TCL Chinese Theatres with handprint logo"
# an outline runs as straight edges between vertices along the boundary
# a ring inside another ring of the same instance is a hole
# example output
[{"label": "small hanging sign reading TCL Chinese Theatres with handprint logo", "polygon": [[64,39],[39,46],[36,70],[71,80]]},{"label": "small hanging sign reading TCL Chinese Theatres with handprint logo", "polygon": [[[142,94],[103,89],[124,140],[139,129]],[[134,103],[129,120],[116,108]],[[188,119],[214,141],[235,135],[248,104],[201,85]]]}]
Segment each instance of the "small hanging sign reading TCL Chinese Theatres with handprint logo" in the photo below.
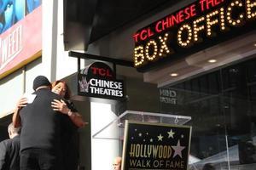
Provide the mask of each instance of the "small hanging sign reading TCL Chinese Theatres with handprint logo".
[{"label": "small hanging sign reading TCL Chinese Theatres with handprint logo", "polygon": [[112,69],[102,63],[95,62],[78,75],[79,95],[104,99],[124,98],[124,82],[115,78]]}]

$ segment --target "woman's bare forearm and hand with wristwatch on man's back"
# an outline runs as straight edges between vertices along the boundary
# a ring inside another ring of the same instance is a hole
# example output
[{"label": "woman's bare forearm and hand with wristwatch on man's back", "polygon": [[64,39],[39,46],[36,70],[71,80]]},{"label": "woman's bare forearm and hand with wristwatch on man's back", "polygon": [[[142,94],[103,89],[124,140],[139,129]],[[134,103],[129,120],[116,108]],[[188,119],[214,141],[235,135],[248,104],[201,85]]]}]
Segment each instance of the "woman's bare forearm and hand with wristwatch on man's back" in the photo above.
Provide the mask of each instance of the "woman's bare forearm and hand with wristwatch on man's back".
[{"label": "woman's bare forearm and hand with wristwatch on man's back", "polygon": [[83,117],[79,114],[79,112],[71,111],[71,109],[67,107],[67,104],[63,100],[60,101],[54,99],[54,101],[51,102],[51,104],[54,111],[60,111],[61,113],[66,114],[73,122],[73,124],[77,127],[84,127],[84,125],[86,124],[86,122],[84,122]]}]

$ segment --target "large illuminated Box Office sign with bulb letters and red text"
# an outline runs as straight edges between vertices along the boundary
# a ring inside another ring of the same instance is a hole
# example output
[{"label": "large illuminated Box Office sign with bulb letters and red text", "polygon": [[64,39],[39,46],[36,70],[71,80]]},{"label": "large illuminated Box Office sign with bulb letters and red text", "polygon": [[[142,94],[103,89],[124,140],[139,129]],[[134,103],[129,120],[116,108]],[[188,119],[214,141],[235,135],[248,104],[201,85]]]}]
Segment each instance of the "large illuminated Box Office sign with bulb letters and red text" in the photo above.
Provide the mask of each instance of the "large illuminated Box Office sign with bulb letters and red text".
[{"label": "large illuminated Box Office sign with bulb letters and red text", "polygon": [[147,71],[156,62],[193,54],[256,28],[255,0],[199,0],[133,35],[134,65]]}]

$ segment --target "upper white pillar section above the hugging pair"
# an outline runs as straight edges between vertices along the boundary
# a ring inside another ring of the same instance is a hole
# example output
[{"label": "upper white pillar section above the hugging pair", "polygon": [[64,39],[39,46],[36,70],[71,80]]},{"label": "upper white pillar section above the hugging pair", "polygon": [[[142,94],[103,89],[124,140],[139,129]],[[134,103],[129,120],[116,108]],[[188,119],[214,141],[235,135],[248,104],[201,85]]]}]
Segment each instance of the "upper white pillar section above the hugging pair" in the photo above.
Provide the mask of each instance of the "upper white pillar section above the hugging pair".
[{"label": "upper white pillar section above the hugging pair", "polygon": [[43,2],[43,65],[50,81],[67,77],[78,68],[77,59],[64,50],[63,17],[63,1]]}]

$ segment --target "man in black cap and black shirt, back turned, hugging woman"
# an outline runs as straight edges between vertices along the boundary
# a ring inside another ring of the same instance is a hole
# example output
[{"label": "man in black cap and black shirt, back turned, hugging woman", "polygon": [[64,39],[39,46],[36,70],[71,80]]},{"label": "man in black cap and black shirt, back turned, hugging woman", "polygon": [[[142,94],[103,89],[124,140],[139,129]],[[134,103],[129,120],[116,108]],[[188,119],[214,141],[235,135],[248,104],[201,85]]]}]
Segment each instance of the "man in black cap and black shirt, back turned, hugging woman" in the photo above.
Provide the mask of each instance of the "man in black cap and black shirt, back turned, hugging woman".
[{"label": "man in black cap and black shirt, back turned, hugging woman", "polygon": [[35,99],[19,111],[20,170],[61,169],[61,127],[66,115],[54,111],[51,102],[62,98],[51,92],[44,76],[34,79],[33,89]]}]

